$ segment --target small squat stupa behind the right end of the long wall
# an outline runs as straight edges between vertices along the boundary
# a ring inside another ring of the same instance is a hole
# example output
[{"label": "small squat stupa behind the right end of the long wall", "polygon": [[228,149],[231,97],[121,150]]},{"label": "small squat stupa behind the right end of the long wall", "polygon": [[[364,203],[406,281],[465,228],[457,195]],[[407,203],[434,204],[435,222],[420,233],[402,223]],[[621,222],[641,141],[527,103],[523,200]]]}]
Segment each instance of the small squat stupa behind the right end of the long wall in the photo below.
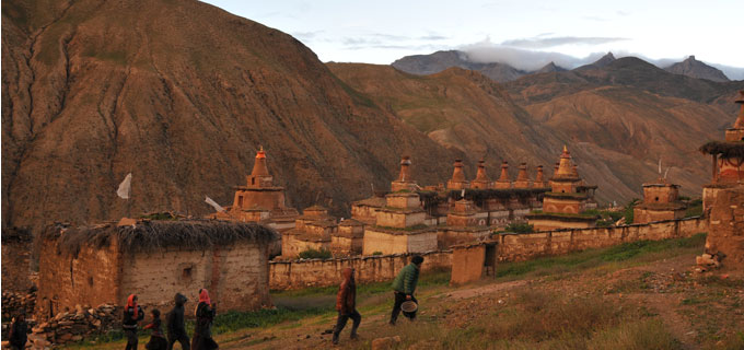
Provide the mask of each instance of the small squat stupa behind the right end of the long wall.
[{"label": "small squat stupa behind the right end of the long wall", "polygon": [[633,208],[633,223],[682,219],[686,209],[679,200],[679,185],[659,178],[643,184],[643,201]]}]

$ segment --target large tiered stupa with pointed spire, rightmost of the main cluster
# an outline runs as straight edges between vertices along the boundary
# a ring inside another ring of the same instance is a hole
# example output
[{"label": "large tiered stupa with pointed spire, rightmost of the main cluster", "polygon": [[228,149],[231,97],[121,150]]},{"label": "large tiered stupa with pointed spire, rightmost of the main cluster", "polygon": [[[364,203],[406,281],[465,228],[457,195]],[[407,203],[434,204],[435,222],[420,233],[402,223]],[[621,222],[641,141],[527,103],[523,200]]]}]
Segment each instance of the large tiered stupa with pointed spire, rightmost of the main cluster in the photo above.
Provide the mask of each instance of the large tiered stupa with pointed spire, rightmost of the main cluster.
[{"label": "large tiered stupa with pointed spire, rightmost of the main cluster", "polygon": [[550,178],[550,191],[544,195],[543,210],[527,214],[527,222],[538,231],[593,228],[598,217],[584,211],[596,208],[595,189],[596,186],[588,186],[579,176],[571,154],[563,147],[556,173]]}]

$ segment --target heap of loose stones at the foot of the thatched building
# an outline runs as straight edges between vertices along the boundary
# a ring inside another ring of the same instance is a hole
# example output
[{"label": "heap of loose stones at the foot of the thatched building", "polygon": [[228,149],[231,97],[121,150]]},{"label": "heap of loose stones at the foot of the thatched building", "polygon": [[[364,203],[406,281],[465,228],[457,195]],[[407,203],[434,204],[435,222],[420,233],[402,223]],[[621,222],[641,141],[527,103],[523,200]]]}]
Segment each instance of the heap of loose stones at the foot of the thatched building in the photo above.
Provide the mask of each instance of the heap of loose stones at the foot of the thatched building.
[{"label": "heap of loose stones at the foot of the thatched building", "polygon": [[75,305],[74,311],[57,314],[39,324],[28,335],[33,349],[47,349],[80,341],[92,335],[105,334],[121,327],[121,307],[102,304],[96,308]]}]

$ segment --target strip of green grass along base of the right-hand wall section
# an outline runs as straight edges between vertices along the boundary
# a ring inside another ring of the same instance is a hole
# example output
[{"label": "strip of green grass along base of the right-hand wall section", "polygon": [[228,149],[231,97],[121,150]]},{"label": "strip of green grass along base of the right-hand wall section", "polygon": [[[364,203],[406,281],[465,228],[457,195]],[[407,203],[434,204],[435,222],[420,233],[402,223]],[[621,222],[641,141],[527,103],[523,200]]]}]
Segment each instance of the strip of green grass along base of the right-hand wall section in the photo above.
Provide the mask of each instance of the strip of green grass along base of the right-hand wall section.
[{"label": "strip of green grass along base of the right-hand wall section", "polygon": [[497,277],[521,277],[527,273],[547,276],[569,270],[588,269],[603,262],[627,261],[632,258],[699,249],[705,245],[706,234],[698,233],[687,238],[664,241],[638,241],[624,243],[609,248],[586,249],[580,253],[536,258],[527,261],[504,262],[497,266]]}]

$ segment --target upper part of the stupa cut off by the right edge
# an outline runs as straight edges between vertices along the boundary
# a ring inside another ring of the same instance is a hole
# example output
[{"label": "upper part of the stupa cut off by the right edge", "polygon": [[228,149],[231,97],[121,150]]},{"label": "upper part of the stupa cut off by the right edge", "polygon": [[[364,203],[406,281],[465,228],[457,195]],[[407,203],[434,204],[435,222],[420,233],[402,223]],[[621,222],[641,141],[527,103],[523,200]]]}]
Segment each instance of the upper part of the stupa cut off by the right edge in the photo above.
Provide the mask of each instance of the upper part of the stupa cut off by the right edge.
[{"label": "upper part of the stupa cut off by the right edge", "polygon": [[740,112],[733,127],[725,130],[724,141],[711,141],[700,151],[710,154],[712,180],[702,187],[702,209],[708,212],[718,192],[744,183],[744,90],[739,92]]}]

